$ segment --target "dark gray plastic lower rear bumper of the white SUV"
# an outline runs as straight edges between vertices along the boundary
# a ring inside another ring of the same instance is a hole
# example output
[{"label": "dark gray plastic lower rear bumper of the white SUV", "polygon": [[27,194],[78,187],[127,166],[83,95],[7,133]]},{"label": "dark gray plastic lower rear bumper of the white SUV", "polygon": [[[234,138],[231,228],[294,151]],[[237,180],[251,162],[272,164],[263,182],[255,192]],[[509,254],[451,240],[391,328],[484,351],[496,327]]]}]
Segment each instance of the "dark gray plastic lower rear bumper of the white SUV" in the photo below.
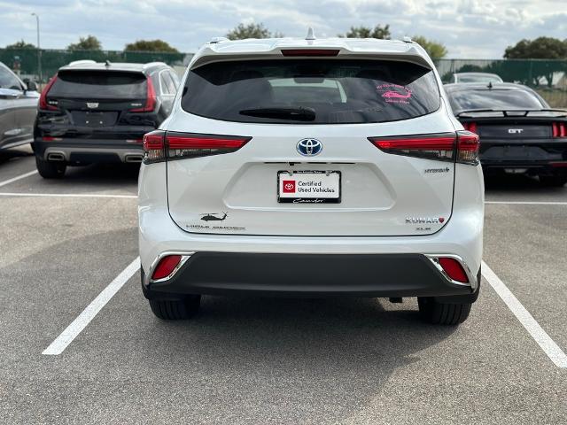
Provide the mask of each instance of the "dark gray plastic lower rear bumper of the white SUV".
[{"label": "dark gray plastic lower rear bumper of the white SUV", "polygon": [[[197,252],[169,278],[151,282],[146,276],[143,290],[151,299],[239,292],[270,296],[473,297],[477,277],[464,266],[470,283],[451,281],[433,259],[422,254]],[[151,275],[152,270],[148,272]]]}]

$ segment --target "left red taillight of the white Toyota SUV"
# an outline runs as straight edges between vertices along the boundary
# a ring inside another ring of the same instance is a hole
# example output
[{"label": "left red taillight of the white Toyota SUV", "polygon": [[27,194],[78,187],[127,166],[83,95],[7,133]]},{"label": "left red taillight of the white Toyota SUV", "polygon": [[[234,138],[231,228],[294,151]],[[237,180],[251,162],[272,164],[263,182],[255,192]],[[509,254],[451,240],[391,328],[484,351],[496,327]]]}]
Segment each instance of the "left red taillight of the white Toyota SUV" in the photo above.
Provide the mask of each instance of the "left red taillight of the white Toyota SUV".
[{"label": "left red taillight of the white Toyota SUV", "polygon": [[144,163],[165,158],[198,158],[231,153],[242,148],[251,137],[237,135],[197,135],[156,130],[144,135]]}]

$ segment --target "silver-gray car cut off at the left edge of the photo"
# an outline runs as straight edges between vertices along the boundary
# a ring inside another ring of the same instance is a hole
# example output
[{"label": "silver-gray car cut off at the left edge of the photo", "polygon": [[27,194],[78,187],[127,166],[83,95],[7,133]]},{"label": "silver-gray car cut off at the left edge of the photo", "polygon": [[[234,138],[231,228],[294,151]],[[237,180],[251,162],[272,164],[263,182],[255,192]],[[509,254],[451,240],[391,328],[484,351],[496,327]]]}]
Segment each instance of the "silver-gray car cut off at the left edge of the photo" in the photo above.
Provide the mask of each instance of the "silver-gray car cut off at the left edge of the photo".
[{"label": "silver-gray car cut off at the left edge of the photo", "polygon": [[39,93],[0,62],[0,151],[32,141]]}]

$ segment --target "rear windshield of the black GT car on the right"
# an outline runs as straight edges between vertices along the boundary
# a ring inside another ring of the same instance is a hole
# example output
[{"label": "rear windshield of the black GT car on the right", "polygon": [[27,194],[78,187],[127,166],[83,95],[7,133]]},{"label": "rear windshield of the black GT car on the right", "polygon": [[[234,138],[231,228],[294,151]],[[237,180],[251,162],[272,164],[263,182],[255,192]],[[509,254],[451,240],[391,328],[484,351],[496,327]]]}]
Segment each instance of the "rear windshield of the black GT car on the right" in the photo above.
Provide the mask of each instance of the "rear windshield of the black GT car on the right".
[{"label": "rear windshield of the black GT car on the right", "polygon": [[540,99],[525,90],[476,89],[447,93],[456,111],[471,109],[540,109]]}]

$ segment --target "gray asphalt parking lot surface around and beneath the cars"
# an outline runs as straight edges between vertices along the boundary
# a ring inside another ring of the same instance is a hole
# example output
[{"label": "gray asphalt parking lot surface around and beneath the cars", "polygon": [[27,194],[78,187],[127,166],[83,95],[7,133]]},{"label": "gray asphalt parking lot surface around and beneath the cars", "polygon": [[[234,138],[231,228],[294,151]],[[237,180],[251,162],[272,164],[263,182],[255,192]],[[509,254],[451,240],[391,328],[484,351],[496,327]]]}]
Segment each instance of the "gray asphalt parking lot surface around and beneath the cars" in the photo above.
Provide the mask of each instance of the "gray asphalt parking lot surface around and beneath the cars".
[{"label": "gray asphalt parking lot surface around and beneath the cars", "polygon": [[458,328],[423,324],[413,299],[205,297],[164,322],[122,273],[136,166],[34,171],[27,149],[0,158],[4,423],[567,422],[567,187],[487,182],[493,273]]}]

